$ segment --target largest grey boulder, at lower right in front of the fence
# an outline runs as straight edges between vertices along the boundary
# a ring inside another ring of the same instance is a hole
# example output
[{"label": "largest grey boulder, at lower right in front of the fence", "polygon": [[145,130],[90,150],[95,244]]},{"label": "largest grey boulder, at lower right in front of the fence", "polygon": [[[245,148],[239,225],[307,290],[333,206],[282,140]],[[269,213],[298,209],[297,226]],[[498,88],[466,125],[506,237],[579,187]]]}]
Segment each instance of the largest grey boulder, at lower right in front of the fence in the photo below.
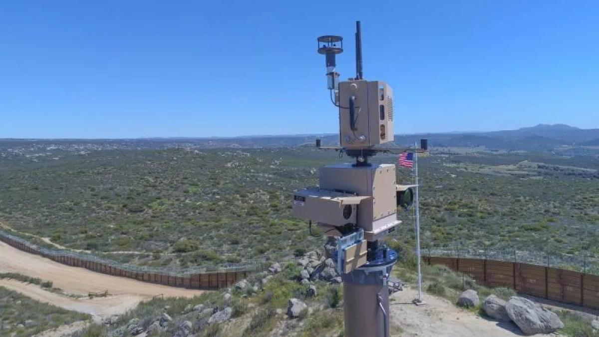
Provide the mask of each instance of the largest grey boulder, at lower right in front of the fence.
[{"label": "largest grey boulder, at lower right in front of the fence", "polygon": [[542,308],[524,297],[512,296],[506,305],[507,315],[525,333],[553,333],[564,327],[555,312]]}]

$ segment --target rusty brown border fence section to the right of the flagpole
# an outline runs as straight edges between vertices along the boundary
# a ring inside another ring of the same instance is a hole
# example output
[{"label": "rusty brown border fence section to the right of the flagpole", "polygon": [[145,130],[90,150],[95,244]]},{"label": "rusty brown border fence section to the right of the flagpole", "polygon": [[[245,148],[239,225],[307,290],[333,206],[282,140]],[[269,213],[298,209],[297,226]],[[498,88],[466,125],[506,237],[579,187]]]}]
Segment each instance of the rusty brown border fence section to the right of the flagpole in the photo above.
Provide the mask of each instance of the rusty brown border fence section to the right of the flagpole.
[{"label": "rusty brown border fence section to the right of the flagpole", "polygon": [[[426,250],[424,251],[426,252]],[[484,257],[423,255],[428,264],[443,264],[489,287],[512,288],[522,294],[599,309],[599,276],[575,270]],[[516,258],[518,252],[515,251]],[[547,255],[549,257],[549,255]],[[586,263],[586,260],[585,260]]]}]

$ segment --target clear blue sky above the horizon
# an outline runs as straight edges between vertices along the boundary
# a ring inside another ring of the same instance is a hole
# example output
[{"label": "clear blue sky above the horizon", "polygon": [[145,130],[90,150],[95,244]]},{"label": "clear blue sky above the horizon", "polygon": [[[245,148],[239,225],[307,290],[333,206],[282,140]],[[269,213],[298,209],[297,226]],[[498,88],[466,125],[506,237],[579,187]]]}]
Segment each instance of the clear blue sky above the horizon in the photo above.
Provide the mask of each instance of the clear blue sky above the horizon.
[{"label": "clear blue sky above the horizon", "polygon": [[0,138],[336,133],[341,78],[394,89],[397,133],[599,127],[597,1],[2,1]]}]

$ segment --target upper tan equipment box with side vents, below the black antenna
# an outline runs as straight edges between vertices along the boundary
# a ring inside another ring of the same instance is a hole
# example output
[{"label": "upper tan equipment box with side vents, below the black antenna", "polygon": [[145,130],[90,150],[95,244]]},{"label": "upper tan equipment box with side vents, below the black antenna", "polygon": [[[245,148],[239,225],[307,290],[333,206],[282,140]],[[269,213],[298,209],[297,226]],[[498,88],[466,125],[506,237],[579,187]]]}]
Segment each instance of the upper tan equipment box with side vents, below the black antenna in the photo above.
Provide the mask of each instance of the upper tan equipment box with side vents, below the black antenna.
[{"label": "upper tan equipment box with side vents, below the black antenna", "polygon": [[[352,130],[350,99],[355,97]],[[342,148],[364,149],[393,142],[393,91],[381,81],[339,83],[339,136]]]}]

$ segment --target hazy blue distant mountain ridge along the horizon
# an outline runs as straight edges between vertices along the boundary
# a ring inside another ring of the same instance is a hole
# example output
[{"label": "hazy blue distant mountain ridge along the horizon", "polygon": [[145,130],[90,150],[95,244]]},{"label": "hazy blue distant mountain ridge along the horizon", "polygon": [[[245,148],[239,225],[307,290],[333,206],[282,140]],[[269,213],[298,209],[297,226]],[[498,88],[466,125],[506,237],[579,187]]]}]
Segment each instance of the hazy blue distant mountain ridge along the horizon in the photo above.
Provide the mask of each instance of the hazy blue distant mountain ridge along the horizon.
[{"label": "hazy blue distant mountain ridge along the horizon", "polygon": [[[409,146],[420,139],[429,140],[437,148],[486,148],[491,151],[570,151],[583,149],[591,154],[599,146],[599,129],[581,129],[565,124],[539,124],[518,130],[468,133],[396,134],[393,143],[386,146]],[[85,149],[161,149],[161,148],[289,148],[312,146],[314,140],[322,145],[338,145],[338,134],[298,134],[282,136],[241,137],[171,137],[145,139],[0,139],[0,149],[10,146],[58,146]],[[81,147],[82,146],[82,147]]]}]

